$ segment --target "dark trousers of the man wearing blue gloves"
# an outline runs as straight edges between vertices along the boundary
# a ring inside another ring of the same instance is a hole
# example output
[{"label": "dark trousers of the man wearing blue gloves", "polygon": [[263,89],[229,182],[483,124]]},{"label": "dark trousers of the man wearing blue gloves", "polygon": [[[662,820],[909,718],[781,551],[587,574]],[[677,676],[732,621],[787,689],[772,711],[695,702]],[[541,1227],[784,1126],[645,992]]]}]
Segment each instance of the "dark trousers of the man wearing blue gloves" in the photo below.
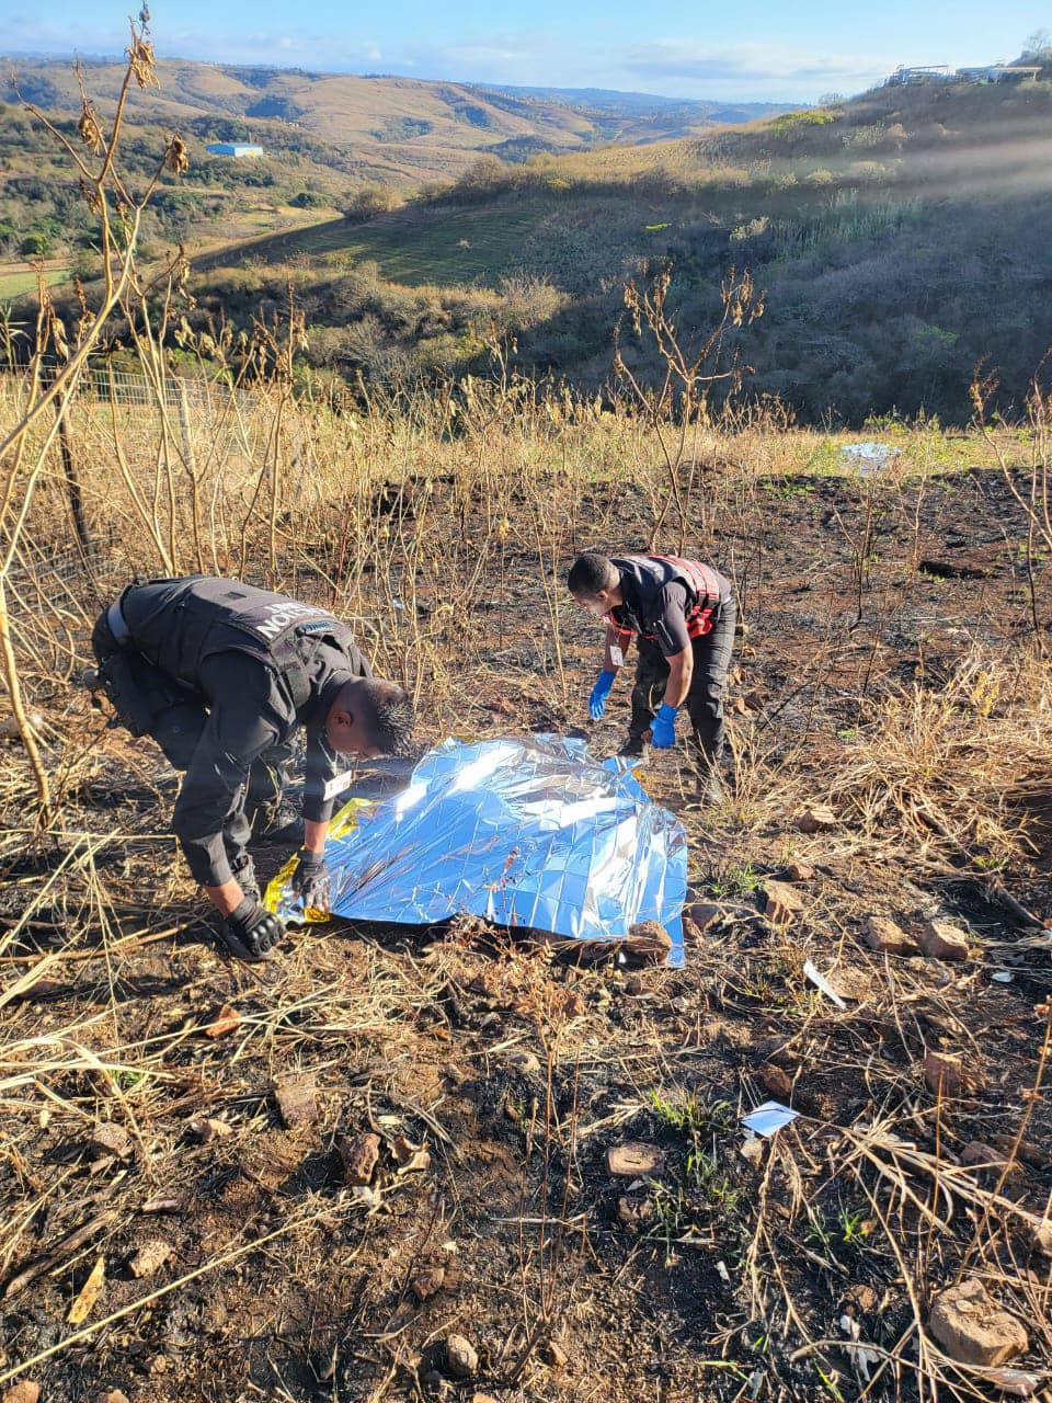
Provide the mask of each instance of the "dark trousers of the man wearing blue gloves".
[{"label": "dark trousers of the man wearing blue gloves", "polygon": [[[707,766],[718,765],[724,753],[724,689],[734,652],[736,622],[738,605],[734,599],[727,599],[713,610],[711,630],[692,640],[694,672],[685,704],[694,732],[694,745]],[[638,654],[628,727],[628,741],[633,746],[641,745],[644,731],[649,730],[669,680],[669,664],[658,644],[644,638],[642,634],[635,641]]]}]

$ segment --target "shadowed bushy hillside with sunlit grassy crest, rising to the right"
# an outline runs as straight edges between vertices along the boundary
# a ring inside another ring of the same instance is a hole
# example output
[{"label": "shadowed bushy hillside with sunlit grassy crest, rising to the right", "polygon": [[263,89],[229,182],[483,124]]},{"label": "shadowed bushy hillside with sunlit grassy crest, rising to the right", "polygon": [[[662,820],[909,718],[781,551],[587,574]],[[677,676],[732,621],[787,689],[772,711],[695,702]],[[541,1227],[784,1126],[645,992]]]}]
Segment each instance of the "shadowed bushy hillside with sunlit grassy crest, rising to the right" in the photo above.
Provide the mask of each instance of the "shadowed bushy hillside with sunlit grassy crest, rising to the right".
[{"label": "shadowed bushy hillside with sunlit grassy crest, rising to the right", "polygon": [[[518,328],[522,362],[599,386],[627,278],[670,260],[689,328],[745,265],[767,289],[748,337],[756,391],[812,418],[959,419],[980,362],[1018,398],[1052,345],[1049,217],[1052,83],[881,88],[701,137],[478,164],[403,210],[328,226],[324,246],[306,233],[254,250],[251,295],[292,254],[313,268],[302,295],[320,324],[363,260],[417,286],[526,279],[558,310]],[[215,261],[205,281],[236,302]],[[433,348],[375,302],[373,340],[428,363]]]}]

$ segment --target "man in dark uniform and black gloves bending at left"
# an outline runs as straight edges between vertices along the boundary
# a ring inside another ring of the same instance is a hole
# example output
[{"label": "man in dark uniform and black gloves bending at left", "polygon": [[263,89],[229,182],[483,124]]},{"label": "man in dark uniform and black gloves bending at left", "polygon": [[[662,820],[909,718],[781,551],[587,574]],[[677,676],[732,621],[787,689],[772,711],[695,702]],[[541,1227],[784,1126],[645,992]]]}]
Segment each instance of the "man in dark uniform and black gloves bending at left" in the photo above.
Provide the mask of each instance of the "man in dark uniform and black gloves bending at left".
[{"label": "man in dark uniform and black gloves bending at left", "polygon": [[303,847],[293,887],[328,909],[324,846],[341,756],[408,748],[412,703],[373,678],[345,624],[324,609],[233,579],[189,575],[129,585],[95,623],[98,686],[132,735],[151,735],[185,770],[173,828],[223,916],[238,960],[262,960],[285,927],[259,904],[247,853],[250,794],[288,776],[307,735]]}]

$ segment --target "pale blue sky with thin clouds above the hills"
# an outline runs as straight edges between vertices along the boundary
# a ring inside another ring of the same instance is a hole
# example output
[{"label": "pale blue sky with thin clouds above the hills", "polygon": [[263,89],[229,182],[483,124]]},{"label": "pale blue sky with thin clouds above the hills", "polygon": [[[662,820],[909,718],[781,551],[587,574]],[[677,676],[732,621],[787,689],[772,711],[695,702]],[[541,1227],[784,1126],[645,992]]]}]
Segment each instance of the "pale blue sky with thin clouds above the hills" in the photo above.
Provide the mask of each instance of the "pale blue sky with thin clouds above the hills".
[{"label": "pale blue sky with thin clouds above the hills", "polygon": [[[119,53],[140,0],[0,0],[0,52]],[[857,93],[899,63],[1011,59],[1052,0],[157,0],[160,56],[421,79],[609,87],[725,101]]]}]

